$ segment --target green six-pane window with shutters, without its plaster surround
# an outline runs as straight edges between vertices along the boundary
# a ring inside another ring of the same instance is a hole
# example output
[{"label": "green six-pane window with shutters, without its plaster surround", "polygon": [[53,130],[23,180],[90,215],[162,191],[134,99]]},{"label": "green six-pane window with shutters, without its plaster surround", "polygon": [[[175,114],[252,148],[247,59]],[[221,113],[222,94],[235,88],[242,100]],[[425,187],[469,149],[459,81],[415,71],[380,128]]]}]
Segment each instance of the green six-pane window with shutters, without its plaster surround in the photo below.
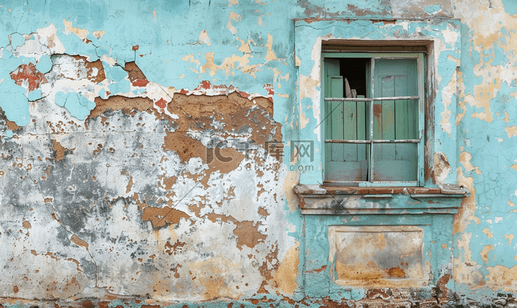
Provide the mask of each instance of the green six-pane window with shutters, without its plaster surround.
[{"label": "green six-pane window with shutters, without its plaster surround", "polygon": [[422,185],[423,53],[321,59],[324,185]]}]

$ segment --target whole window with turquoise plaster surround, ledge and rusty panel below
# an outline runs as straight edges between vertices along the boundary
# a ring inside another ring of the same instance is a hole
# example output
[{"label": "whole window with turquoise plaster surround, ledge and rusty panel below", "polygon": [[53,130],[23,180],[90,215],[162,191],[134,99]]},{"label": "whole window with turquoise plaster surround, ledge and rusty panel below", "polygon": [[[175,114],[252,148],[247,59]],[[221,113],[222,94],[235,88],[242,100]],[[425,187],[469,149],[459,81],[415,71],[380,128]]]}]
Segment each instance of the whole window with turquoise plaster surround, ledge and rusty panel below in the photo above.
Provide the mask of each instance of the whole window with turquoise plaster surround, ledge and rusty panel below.
[{"label": "whole window with turquoise plaster surround, ledge and rusty panel below", "polygon": [[[451,274],[452,252],[443,247],[468,194],[454,174],[460,29],[452,19],[295,21],[295,135],[314,143],[314,161],[296,161],[314,170],[298,169],[294,186],[308,296],[432,287]],[[452,172],[434,169],[434,156],[447,157]],[[379,236],[410,241],[413,252],[361,244]],[[365,265],[369,256],[375,260]],[[355,260],[365,266],[358,269]],[[404,276],[389,274],[394,268]]]}]

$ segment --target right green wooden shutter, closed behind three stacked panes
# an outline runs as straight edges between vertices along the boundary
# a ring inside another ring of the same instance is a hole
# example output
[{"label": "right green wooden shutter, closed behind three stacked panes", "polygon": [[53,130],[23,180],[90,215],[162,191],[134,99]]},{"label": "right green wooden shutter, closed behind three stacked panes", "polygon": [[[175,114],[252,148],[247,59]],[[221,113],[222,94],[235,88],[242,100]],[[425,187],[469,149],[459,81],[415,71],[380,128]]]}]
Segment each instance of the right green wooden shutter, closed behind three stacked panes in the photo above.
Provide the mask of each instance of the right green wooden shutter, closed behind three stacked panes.
[{"label": "right green wooden shutter, closed behind three stacked panes", "polygon": [[[375,97],[417,96],[416,59],[376,59]],[[418,138],[418,100],[376,101],[374,139]],[[416,181],[417,143],[374,144],[374,181]]]}]

